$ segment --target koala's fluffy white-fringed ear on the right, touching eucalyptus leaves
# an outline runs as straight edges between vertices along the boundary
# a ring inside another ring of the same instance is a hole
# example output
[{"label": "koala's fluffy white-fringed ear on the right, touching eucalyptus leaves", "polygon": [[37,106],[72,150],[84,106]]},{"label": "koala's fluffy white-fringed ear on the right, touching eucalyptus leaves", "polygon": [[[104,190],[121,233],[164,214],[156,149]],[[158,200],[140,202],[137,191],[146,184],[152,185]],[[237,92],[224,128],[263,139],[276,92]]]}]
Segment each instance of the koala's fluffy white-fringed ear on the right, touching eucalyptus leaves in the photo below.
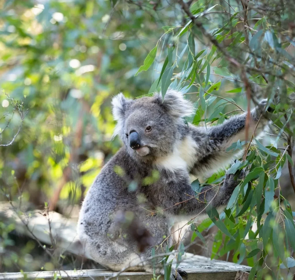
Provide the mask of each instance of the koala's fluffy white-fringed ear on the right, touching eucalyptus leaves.
[{"label": "koala's fluffy white-fringed ear on the right, touching eucalyptus leaves", "polygon": [[177,90],[167,90],[163,105],[168,109],[169,113],[175,117],[190,116],[194,113],[193,104],[184,99],[183,95]]}]

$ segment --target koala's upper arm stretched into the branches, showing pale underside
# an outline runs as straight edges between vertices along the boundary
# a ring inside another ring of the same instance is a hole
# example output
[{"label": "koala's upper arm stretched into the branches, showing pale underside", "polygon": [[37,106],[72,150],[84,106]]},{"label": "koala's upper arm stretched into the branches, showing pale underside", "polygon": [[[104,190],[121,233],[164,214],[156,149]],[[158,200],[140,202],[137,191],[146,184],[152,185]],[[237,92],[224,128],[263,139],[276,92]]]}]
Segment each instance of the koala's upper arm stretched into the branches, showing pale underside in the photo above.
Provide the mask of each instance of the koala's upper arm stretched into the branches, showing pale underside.
[{"label": "koala's upper arm stretched into the branches, showing pale underside", "polygon": [[[259,106],[251,110],[249,121],[248,140],[252,136],[261,112],[266,105],[266,100],[260,102]],[[205,175],[216,169],[224,168],[232,159],[241,156],[243,151],[227,151],[232,143],[245,139],[245,124],[247,113],[230,117],[223,124],[207,127],[190,126],[191,136],[196,143],[196,158],[191,173]],[[254,136],[260,138],[268,126],[268,120],[262,117],[255,130]]]}]

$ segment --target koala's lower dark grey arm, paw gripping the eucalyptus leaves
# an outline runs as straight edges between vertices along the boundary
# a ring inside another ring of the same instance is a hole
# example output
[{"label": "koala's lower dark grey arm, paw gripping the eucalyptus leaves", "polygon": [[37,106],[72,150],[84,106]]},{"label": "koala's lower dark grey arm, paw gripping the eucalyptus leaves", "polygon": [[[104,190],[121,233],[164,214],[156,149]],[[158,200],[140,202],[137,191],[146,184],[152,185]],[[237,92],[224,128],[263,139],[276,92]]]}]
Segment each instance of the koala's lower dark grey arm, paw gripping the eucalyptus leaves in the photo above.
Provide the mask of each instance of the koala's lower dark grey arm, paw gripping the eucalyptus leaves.
[{"label": "koala's lower dark grey arm, paw gripping the eucalyptus leaves", "polygon": [[205,208],[208,207],[208,203],[211,203],[217,210],[222,210],[227,205],[233,190],[240,180],[245,178],[245,171],[242,170],[239,174],[227,173],[223,184],[207,185],[199,195],[192,190],[186,177],[181,174],[177,177],[176,181],[165,186],[162,184],[158,194],[155,192],[154,199],[158,203],[157,206],[165,209],[164,213],[174,217],[204,219],[207,217]]}]

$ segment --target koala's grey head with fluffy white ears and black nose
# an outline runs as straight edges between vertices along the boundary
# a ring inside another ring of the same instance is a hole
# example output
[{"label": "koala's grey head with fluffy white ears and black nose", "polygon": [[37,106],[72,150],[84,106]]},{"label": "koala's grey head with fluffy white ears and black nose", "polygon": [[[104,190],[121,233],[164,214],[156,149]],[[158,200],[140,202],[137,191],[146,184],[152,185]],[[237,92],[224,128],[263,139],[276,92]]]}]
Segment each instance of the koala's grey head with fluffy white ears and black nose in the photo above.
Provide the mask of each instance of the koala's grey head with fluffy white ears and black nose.
[{"label": "koala's grey head with fluffy white ears and black nose", "polygon": [[168,90],[164,100],[155,93],[152,97],[127,99],[119,93],[112,100],[119,135],[129,154],[139,160],[164,156],[173,150],[180,138],[182,117],[193,113],[192,103],[175,90]]}]

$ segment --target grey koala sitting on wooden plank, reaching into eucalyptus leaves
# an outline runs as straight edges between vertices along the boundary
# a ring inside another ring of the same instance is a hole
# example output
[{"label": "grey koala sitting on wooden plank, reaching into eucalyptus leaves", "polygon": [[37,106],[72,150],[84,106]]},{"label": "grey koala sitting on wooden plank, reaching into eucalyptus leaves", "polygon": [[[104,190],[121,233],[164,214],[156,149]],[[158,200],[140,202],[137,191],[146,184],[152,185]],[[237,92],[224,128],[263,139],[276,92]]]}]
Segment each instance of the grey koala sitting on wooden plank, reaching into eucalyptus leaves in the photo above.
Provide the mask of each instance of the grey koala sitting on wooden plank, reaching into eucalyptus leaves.
[{"label": "grey koala sitting on wooden plank, reaching into eucalyptus leaves", "polygon": [[[194,113],[193,104],[173,89],[168,89],[164,99],[155,93],[131,100],[120,93],[112,105],[117,120],[114,134],[124,145],[87,192],[78,235],[87,253],[109,269],[155,269],[163,274],[163,266],[151,258],[152,247],[158,255],[172,246],[169,236],[173,221],[205,219],[208,203],[222,211],[245,177],[244,171],[237,176],[227,173],[222,186],[207,185],[198,197],[190,184],[190,174],[207,176],[241,156],[243,151],[227,148],[245,140],[247,113],[217,126],[187,125],[183,117]],[[263,100],[251,110],[249,138],[265,105]],[[268,120],[262,117],[256,139],[267,127]],[[123,226],[126,221],[127,228]],[[141,239],[145,250],[138,250],[134,239]],[[172,268],[170,277],[182,280],[186,275],[182,269]]]}]

